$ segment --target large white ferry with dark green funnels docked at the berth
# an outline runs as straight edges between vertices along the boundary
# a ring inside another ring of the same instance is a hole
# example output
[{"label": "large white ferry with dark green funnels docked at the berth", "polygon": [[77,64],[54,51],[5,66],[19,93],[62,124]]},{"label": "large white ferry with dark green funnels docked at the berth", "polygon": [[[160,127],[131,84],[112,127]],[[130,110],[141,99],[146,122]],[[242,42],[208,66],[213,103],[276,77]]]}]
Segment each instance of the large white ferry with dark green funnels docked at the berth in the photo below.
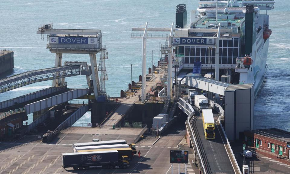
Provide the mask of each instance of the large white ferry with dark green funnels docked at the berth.
[{"label": "large white ferry with dark green funnels docked at the berth", "polygon": [[[191,11],[190,27],[186,5],[178,5],[172,44],[173,56],[183,55],[174,56],[179,59],[179,69],[194,69],[196,62],[200,62],[201,74],[214,73],[219,45],[218,80],[253,83],[256,96],[268,67],[272,31],[267,10],[274,9],[274,3],[274,0],[200,0],[197,10]],[[218,38],[218,43],[214,38]]]}]

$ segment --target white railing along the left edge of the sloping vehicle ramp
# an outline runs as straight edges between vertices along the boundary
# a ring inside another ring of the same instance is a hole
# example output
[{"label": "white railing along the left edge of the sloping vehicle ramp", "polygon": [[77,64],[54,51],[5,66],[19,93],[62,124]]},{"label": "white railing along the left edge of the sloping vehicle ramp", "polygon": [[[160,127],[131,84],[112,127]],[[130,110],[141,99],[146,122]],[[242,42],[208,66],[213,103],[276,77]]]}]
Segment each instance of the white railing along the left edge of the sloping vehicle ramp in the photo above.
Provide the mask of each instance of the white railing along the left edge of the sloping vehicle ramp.
[{"label": "white railing along the left edge of the sloping vehicle ramp", "polygon": [[198,143],[196,142],[196,137],[195,137],[195,134],[192,130],[192,126],[191,126],[191,122],[190,122],[190,120],[192,120],[192,118],[194,118],[194,117],[195,117],[194,112],[192,112],[190,114],[190,116],[188,116],[188,118],[185,122],[186,123],[185,125],[187,127],[187,130],[189,131],[189,136],[190,136],[191,142],[193,142],[192,147],[194,148],[195,154],[197,155],[197,160],[198,160],[198,163],[200,164],[199,168],[203,174],[206,174],[205,165],[203,163],[203,159],[202,159],[202,156],[200,154],[200,149],[198,147]]}]

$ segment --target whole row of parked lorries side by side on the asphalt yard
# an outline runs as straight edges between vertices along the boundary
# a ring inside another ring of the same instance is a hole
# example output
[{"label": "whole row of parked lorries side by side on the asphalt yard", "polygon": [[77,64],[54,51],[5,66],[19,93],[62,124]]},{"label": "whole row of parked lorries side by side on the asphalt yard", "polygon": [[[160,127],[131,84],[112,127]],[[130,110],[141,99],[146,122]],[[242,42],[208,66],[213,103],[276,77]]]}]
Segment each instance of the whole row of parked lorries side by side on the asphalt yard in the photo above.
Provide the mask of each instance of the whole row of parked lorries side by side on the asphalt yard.
[{"label": "whole row of parked lorries side by side on the asphalt yard", "polygon": [[127,168],[128,160],[136,154],[136,144],[126,140],[97,141],[72,144],[72,153],[62,154],[63,168],[74,170],[105,167],[109,169]]}]

